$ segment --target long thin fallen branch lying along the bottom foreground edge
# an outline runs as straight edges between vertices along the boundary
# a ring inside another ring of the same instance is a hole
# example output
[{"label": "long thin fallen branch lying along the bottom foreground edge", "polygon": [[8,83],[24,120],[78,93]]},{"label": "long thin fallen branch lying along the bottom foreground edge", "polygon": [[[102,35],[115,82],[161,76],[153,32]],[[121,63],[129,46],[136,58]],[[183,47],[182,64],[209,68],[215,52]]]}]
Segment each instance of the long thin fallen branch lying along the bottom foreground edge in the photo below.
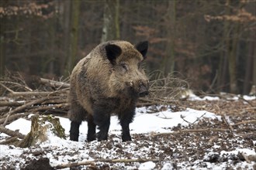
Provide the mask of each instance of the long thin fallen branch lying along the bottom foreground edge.
[{"label": "long thin fallen branch lying along the bottom foreground edge", "polygon": [[74,163],[67,163],[57,165],[54,168],[71,168],[74,166],[81,166],[81,165],[91,165],[95,162],[109,162],[109,163],[118,163],[118,162],[159,162],[159,159],[146,159],[146,158],[139,158],[139,159],[95,159],[93,161],[86,161],[86,162],[74,162]]}]

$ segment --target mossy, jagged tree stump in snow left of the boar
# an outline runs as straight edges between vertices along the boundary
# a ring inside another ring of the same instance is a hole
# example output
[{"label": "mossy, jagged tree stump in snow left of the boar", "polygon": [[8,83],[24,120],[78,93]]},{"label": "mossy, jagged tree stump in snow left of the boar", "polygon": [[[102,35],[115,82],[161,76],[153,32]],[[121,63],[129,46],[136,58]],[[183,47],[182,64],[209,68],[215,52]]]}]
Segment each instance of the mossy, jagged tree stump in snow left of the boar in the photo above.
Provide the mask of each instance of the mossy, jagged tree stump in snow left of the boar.
[{"label": "mossy, jagged tree stump in snow left of the boar", "polygon": [[35,115],[31,118],[31,121],[31,130],[24,139],[18,142],[19,147],[27,148],[39,145],[40,143],[47,141],[47,133],[49,132],[59,138],[66,139],[64,128],[61,127],[59,118],[51,115],[44,117]]}]

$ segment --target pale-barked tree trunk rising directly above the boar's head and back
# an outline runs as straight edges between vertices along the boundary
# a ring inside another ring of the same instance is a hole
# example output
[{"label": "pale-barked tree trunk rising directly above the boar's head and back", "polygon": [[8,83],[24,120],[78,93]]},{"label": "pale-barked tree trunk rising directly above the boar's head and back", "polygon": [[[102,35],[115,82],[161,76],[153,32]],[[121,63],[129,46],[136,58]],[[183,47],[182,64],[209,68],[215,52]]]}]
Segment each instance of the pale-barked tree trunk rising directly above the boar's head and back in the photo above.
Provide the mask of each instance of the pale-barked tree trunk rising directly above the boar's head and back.
[{"label": "pale-barked tree trunk rising directly above the boar's head and back", "polygon": [[106,0],[102,27],[102,42],[120,39],[119,0]]}]

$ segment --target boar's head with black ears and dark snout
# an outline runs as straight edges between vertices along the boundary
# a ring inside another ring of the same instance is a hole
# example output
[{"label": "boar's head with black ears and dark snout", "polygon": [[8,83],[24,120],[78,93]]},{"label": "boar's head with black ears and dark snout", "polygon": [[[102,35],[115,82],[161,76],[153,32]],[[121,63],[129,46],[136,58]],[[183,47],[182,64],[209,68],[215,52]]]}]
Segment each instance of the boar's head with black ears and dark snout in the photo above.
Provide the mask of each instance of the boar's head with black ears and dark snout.
[{"label": "boar's head with black ears and dark snout", "polygon": [[106,56],[112,66],[109,77],[112,92],[133,97],[145,97],[149,93],[148,79],[141,66],[146,59],[147,47],[147,41],[136,46],[129,42],[106,45]]}]

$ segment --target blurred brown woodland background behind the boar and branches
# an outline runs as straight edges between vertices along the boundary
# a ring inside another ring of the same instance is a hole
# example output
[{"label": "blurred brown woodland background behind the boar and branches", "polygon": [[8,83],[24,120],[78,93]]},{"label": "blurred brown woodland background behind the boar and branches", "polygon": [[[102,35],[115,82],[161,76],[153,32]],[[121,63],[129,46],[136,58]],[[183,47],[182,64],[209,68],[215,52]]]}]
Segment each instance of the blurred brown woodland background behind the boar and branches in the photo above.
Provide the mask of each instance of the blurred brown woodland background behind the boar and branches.
[{"label": "blurred brown woodland background behind the boar and branches", "polygon": [[147,73],[207,93],[256,84],[256,0],[1,0],[0,21],[0,76],[67,77],[100,42],[147,39]]}]

